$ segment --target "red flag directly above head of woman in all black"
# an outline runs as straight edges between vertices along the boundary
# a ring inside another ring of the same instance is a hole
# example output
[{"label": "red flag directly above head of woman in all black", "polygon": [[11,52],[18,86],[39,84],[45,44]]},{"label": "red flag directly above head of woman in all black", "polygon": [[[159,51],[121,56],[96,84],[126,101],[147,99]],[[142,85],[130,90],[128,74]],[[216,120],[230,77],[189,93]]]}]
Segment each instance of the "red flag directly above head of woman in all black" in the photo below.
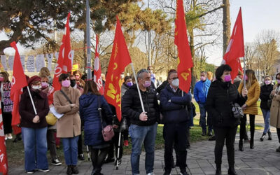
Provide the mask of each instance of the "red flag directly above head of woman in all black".
[{"label": "red flag directly above head of woman in all black", "polygon": [[237,77],[238,70],[242,71],[240,57],[244,57],[244,38],[243,38],[243,25],[241,8],[237,15],[235,27],[232,30],[232,36],[230,36],[230,43],[223,56],[222,64],[228,64],[231,68],[232,80]]}]

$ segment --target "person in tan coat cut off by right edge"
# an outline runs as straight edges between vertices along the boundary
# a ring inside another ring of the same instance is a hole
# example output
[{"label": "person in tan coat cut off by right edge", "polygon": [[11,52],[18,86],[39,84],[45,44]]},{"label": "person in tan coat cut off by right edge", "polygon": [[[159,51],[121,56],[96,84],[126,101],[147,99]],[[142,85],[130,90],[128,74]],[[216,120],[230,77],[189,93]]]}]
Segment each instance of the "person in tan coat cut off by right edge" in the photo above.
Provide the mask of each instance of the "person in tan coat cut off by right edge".
[{"label": "person in tan coat cut off by right edge", "polygon": [[[272,99],[272,106],[270,108],[270,125],[276,127],[277,136],[280,143],[280,73],[276,74],[277,84],[274,85],[270,98]],[[276,149],[280,152],[280,146]]]}]

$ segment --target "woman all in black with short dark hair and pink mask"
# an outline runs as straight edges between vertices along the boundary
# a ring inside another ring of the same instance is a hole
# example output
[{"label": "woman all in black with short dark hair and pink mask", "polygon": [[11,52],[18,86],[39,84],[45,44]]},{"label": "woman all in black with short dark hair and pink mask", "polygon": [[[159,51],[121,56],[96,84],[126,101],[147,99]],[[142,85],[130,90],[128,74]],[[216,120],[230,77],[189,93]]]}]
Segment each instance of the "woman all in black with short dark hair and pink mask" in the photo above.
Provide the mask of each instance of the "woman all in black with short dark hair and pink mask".
[{"label": "woman all in black with short dark hair and pink mask", "polygon": [[228,64],[222,64],[216,69],[216,80],[211,83],[207,97],[206,108],[211,116],[216,136],[215,163],[216,175],[221,175],[223,146],[226,144],[228,153],[228,174],[235,175],[235,135],[240,119],[232,113],[232,104],[242,106],[247,99],[248,91],[241,90],[231,83],[232,69]]}]

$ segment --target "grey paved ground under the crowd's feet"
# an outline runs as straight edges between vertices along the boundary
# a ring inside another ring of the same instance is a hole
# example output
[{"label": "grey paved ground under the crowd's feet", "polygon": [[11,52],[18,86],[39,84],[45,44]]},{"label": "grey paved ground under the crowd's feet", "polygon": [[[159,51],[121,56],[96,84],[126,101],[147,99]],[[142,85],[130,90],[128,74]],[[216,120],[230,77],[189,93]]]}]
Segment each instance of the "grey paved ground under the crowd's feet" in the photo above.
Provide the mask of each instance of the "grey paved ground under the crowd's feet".
[{"label": "grey paved ground under the crowd's feet", "polygon": [[[256,120],[258,123],[258,120]],[[262,122],[263,123],[263,122]],[[237,174],[280,174],[280,153],[276,153],[275,149],[279,146],[276,136],[276,130],[272,129],[272,141],[259,141],[262,131],[255,133],[255,149],[251,150],[249,144],[244,144],[244,152],[238,151],[239,135],[237,134],[235,141],[235,168]],[[188,149],[188,173],[189,174],[215,174],[216,165],[214,163],[214,146],[215,141],[201,141],[191,144]],[[141,155],[140,171],[145,174],[144,153]],[[119,169],[114,169],[113,163],[102,167],[104,175],[113,174],[132,174],[130,165],[130,155],[123,157],[123,162]],[[155,151],[155,174],[164,173],[164,150]],[[9,174],[26,174],[24,167],[20,166],[15,169],[10,169]],[[78,163],[79,174],[91,174],[92,165],[90,162]],[[222,173],[228,174],[228,160],[226,149],[223,151]],[[66,166],[62,165],[55,167],[50,165],[50,172],[35,174],[66,174]],[[172,174],[179,174],[179,168],[173,169]]]}]

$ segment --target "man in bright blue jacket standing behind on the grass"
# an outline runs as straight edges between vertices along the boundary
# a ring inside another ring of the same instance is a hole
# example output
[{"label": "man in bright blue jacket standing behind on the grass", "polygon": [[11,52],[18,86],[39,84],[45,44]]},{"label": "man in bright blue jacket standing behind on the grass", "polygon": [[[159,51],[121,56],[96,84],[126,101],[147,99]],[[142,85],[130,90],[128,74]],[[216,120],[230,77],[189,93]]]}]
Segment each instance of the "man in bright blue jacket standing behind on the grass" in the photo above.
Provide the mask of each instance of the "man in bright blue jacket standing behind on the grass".
[{"label": "man in bright blue jacket standing behind on the grass", "polygon": [[[211,80],[207,79],[207,73],[202,71],[200,73],[200,81],[195,84],[194,96],[195,101],[200,106],[200,126],[202,127],[202,136],[206,135],[207,127],[206,127],[206,113],[207,110],[206,106],[206,99],[209,87],[211,85]],[[211,127],[211,120],[207,118],[207,125],[208,125],[208,135],[212,136],[212,127]]]}]

